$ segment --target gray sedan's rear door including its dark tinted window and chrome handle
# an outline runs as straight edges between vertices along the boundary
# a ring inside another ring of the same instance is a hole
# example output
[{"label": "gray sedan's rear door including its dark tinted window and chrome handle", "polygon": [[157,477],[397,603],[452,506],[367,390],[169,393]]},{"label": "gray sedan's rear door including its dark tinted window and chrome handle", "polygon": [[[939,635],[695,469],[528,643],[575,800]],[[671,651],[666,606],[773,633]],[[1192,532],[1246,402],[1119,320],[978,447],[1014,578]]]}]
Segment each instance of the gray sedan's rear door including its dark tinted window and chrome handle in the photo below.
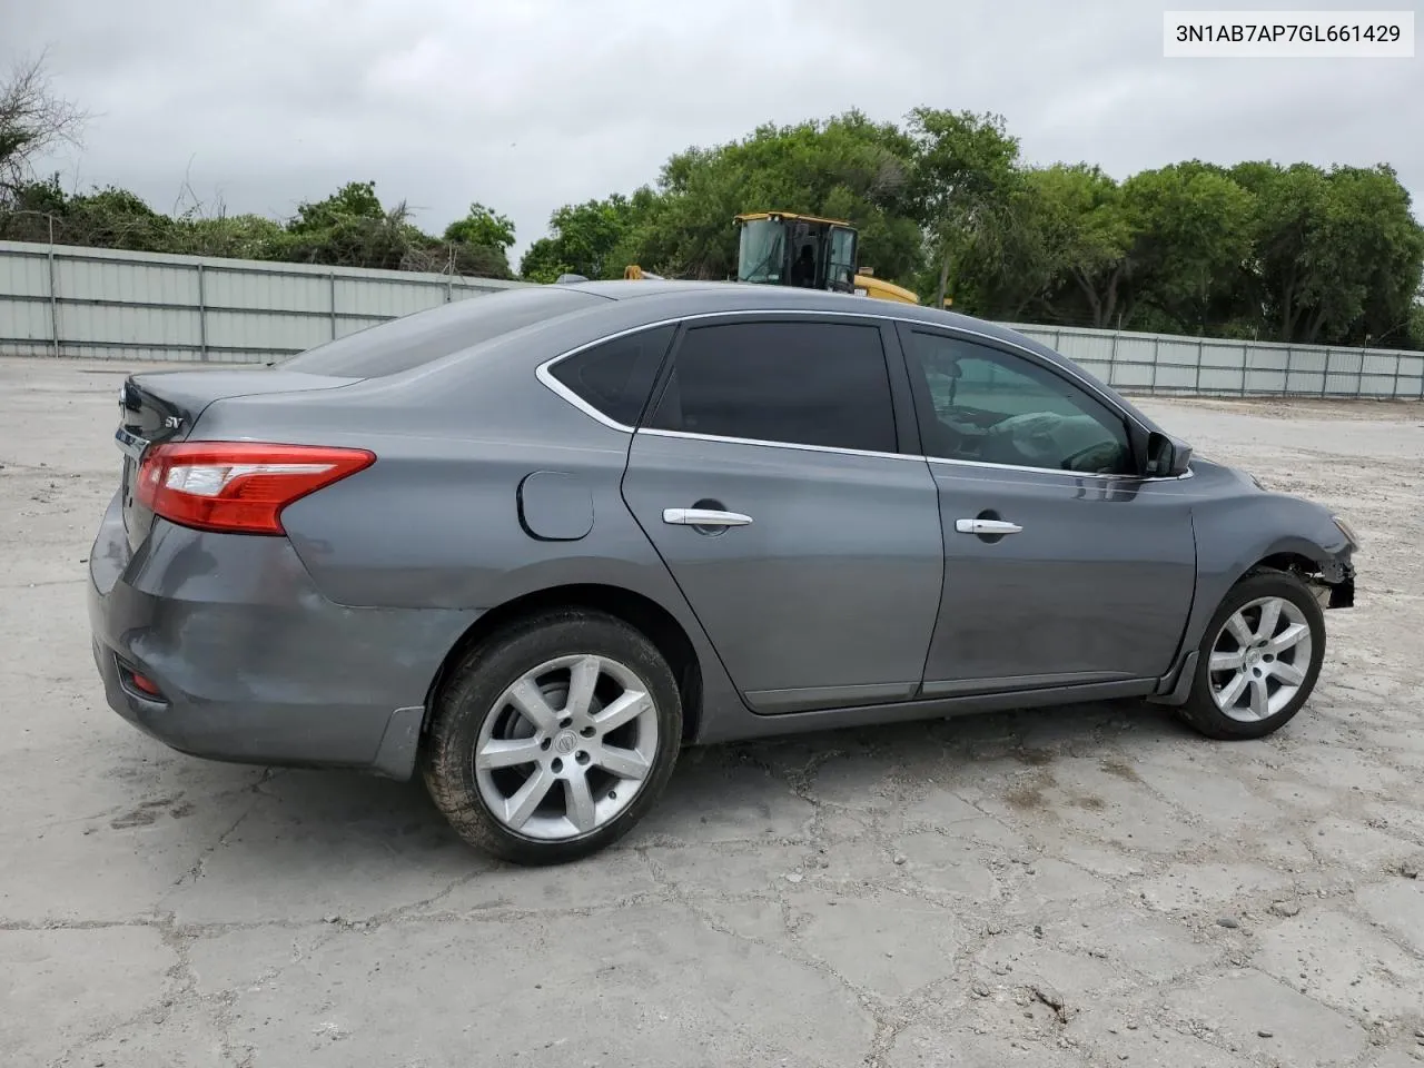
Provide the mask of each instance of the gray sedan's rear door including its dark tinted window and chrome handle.
[{"label": "gray sedan's rear door including its dark tinted window and chrome handle", "polygon": [[896,345],[874,319],[695,320],[634,434],[624,498],[759,712],[920,685],[944,553]]}]

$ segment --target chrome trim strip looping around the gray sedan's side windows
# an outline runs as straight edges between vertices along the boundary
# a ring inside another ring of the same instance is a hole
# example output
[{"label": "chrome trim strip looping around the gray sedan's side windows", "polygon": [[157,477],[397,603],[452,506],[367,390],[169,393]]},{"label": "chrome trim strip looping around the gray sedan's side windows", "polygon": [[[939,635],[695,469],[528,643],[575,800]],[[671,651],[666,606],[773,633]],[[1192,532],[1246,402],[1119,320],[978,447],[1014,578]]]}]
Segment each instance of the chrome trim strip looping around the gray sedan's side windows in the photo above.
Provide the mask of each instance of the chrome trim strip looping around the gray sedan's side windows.
[{"label": "chrome trim strip looping around the gray sedan's side windows", "polygon": [[[824,318],[833,318],[833,319],[881,319],[881,320],[894,322],[894,323],[906,323],[906,325],[909,325],[911,328],[921,326],[921,328],[926,328],[928,330],[938,330],[941,333],[958,333],[958,335],[965,335],[965,336],[970,336],[970,337],[983,337],[985,342],[1004,345],[1007,347],[1017,349],[1018,352],[1024,353],[1025,356],[1031,356],[1031,357],[1035,357],[1035,359],[1042,359],[1038,353],[1035,353],[1032,349],[1030,349],[1025,345],[1018,345],[1017,342],[1004,340],[1002,337],[995,337],[994,335],[984,333],[981,330],[971,330],[971,329],[964,328],[964,326],[940,326],[937,323],[926,323],[926,322],[920,322],[918,319],[907,319],[906,316],[890,315],[890,313],[886,313],[886,312],[880,312],[879,309],[871,309],[871,310],[866,310],[866,312],[823,312],[823,310],[816,310],[816,309],[809,309],[809,308],[758,308],[758,309],[738,308],[738,309],[733,309],[733,310],[728,310],[728,312],[693,312],[691,315],[674,315],[674,316],[668,316],[666,319],[656,319],[654,322],[639,323],[638,326],[631,326],[631,328],[628,328],[625,330],[615,330],[614,333],[604,335],[604,336],[597,337],[597,339],[594,339],[591,342],[584,342],[582,345],[580,345],[577,347],[572,347],[568,352],[561,352],[558,356],[551,356],[550,359],[544,360],[543,363],[540,363],[534,369],[534,375],[544,384],[545,389],[548,389],[550,392],[553,392],[557,397],[560,397],[565,403],[572,404],[575,409],[578,409],[580,412],[582,412],[585,416],[588,416],[590,419],[592,419],[597,423],[601,423],[602,426],[608,427],[609,430],[619,430],[619,431],[622,431],[625,434],[649,434],[652,437],[679,437],[679,439],[686,439],[686,440],[692,440],[692,441],[728,441],[731,444],[760,446],[763,449],[792,449],[792,450],[807,451],[807,453],[837,453],[837,454],[842,454],[842,456],[869,456],[869,457],[879,457],[879,459],[883,459],[883,460],[917,460],[917,461],[921,461],[921,463],[931,463],[931,464],[951,464],[951,466],[958,466],[958,467],[984,467],[984,468],[990,468],[990,470],[1002,470],[1002,471],[1032,471],[1035,474],[1058,474],[1058,476],[1068,476],[1071,478],[1101,478],[1104,481],[1163,483],[1163,481],[1180,481],[1183,478],[1190,478],[1193,476],[1193,471],[1190,468],[1188,468],[1188,471],[1185,474],[1159,474],[1159,476],[1094,474],[1094,473],[1089,473],[1089,471],[1064,471],[1064,470],[1061,470],[1058,467],[1022,467],[1022,466],[1018,466],[1018,464],[987,463],[984,460],[951,460],[951,459],[947,459],[947,457],[943,457],[943,456],[916,456],[916,454],[910,454],[910,453],[879,453],[879,451],[871,451],[871,450],[866,450],[866,449],[842,449],[842,447],[837,447],[837,446],[813,446],[813,444],[802,444],[802,443],[797,443],[797,441],[762,441],[762,440],[749,439],[749,437],[726,437],[723,434],[699,434],[699,433],[693,433],[691,430],[658,430],[656,427],[642,427],[642,429],[638,429],[638,427],[631,427],[631,426],[627,426],[624,423],[619,423],[615,419],[609,419],[602,412],[600,412],[592,404],[590,404],[587,400],[584,400],[577,393],[574,393],[574,390],[571,390],[562,382],[560,382],[558,379],[555,379],[554,375],[553,375],[553,372],[550,370],[555,363],[561,363],[562,360],[571,359],[571,357],[577,356],[581,352],[587,352],[588,349],[597,347],[597,346],[604,345],[607,342],[618,340],[619,337],[627,337],[628,335],[632,335],[632,333],[641,333],[642,330],[655,330],[659,326],[675,326],[675,325],[679,325],[679,323],[693,322],[693,320],[698,320],[698,319],[728,319],[728,318],[739,318],[739,316],[779,316],[779,315],[785,315],[785,316],[815,316],[815,318],[822,318],[822,319],[824,319]],[[1081,372],[1078,372],[1078,370],[1075,370],[1072,367],[1058,367],[1057,365],[1054,366],[1054,370],[1062,370],[1069,377],[1077,379],[1077,382],[1082,387],[1085,387],[1088,393],[1091,393],[1092,396],[1095,396],[1101,403],[1106,404],[1109,410],[1118,412],[1124,419],[1131,420],[1134,423],[1134,426],[1136,426],[1139,430],[1148,431],[1148,427],[1143,426],[1142,422],[1136,419],[1136,416],[1134,416],[1131,412],[1128,412],[1125,409],[1121,409],[1118,406],[1118,403],[1112,397],[1109,397],[1105,393],[1099,392],[1098,386],[1091,379],[1084,377],[1084,375]]]}]

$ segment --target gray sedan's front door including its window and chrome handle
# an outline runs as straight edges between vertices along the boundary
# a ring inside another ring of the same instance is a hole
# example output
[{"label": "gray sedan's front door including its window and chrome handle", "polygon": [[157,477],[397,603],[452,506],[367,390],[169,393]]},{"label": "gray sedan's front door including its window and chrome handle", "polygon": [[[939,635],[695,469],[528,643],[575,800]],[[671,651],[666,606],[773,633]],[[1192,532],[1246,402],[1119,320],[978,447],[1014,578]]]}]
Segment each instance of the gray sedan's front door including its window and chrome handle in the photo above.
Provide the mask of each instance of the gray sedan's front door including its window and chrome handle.
[{"label": "gray sedan's front door including its window and chrome handle", "polygon": [[1182,480],[1139,477],[1125,413],[1049,362],[900,336],[944,530],[924,695],[1163,675],[1196,581]]}]

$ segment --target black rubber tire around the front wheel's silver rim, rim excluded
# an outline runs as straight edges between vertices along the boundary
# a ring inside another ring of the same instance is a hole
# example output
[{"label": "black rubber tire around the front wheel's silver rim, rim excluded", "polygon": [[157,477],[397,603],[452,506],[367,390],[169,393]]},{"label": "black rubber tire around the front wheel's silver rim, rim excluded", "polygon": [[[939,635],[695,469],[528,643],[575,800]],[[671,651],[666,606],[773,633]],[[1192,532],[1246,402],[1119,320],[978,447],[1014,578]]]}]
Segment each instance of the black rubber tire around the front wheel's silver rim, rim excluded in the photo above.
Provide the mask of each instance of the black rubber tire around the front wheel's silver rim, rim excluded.
[{"label": "black rubber tire around the front wheel's silver rim, rim excluded", "polygon": [[[1212,648],[1226,625],[1226,621],[1245,604],[1263,597],[1277,597],[1294,604],[1306,617],[1310,627],[1310,664],[1306,668],[1306,678],[1300,689],[1280,712],[1257,722],[1242,722],[1232,719],[1216,706],[1212,698],[1210,658]],[[1320,668],[1326,655],[1326,625],[1324,611],[1316,601],[1310,588],[1286,571],[1257,571],[1247,575],[1227,591],[1222,598],[1206,634],[1198,646],[1196,676],[1192,684],[1192,693],[1188,699],[1188,718],[1199,729],[1216,738],[1265,738],[1286,725],[1310,699],[1320,676]]]}]

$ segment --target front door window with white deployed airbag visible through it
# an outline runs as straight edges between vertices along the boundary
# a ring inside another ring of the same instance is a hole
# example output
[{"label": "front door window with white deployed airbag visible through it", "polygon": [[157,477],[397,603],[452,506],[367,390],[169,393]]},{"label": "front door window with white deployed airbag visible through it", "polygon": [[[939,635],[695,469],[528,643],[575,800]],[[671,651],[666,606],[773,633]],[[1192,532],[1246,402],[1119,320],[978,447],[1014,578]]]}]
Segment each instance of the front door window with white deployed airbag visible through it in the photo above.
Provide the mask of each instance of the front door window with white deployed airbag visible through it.
[{"label": "front door window with white deployed airbag visible through it", "polygon": [[911,369],[933,406],[920,427],[930,456],[1095,474],[1132,471],[1122,419],[1068,379],[973,342],[911,337]]}]

